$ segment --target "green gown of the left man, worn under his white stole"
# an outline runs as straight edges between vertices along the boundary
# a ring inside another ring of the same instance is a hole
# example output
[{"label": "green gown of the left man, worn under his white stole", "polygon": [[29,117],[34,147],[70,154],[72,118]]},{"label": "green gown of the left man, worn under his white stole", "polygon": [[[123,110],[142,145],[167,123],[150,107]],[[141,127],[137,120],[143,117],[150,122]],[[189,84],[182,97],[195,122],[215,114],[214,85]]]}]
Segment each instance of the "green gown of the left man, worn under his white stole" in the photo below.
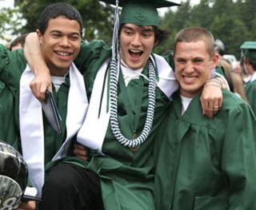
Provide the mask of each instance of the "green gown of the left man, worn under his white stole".
[{"label": "green gown of the left man, worn under his white stole", "polygon": [[[14,50],[10,52],[6,50],[4,46],[0,46],[0,80],[3,81],[6,86],[10,89],[12,97],[14,97],[14,119],[15,123],[15,132],[18,134],[18,137],[15,138],[15,141],[12,142],[12,145],[20,153],[22,153],[21,140],[19,137],[19,80],[22,75],[22,72],[26,69],[26,60],[23,56],[22,50]],[[62,84],[58,93],[54,91],[54,99],[56,101],[58,111],[62,117],[62,134],[58,134],[50,127],[50,124],[43,117],[44,123],[44,140],[45,140],[45,164],[49,164],[54,154],[58,152],[63,141],[66,139],[66,109],[67,109],[67,97],[69,91],[69,78],[66,79],[66,83]],[[1,101],[6,100],[6,96],[0,93]],[[10,96],[9,96],[10,97]],[[11,104],[10,104],[11,107]],[[79,114],[79,113],[78,113]],[[8,113],[4,114],[4,117],[9,117]],[[31,119],[31,121],[37,121],[37,119]],[[0,129],[5,126],[2,124]]]}]

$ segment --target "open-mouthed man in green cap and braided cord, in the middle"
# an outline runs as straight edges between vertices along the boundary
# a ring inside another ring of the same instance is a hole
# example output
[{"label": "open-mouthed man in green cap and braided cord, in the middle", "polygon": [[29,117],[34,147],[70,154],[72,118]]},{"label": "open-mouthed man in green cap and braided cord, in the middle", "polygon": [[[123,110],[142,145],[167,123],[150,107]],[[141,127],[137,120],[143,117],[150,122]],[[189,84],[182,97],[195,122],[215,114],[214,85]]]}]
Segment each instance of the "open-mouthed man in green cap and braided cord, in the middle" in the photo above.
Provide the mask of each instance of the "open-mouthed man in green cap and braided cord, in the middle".
[{"label": "open-mouthed man in green cap and braided cord, in the middle", "polygon": [[[164,34],[156,7],[173,4],[126,1],[112,51],[98,41],[82,44],[75,62],[90,106],[77,141],[86,145],[88,160],[66,157],[50,170],[42,209],[154,209],[154,139],[178,85],[170,65],[152,50]],[[40,69],[35,61],[32,68]]]}]

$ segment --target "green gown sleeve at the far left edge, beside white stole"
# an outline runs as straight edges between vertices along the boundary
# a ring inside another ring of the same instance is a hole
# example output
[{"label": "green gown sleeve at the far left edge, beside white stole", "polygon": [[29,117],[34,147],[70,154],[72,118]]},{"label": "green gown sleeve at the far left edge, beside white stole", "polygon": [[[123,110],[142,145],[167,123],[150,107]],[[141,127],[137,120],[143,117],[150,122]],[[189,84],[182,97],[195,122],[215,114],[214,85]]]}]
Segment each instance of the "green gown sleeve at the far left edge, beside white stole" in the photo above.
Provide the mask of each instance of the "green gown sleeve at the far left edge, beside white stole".
[{"label": "green gown sleeve at the far left edge, beside white stole", "polygon": [[[20,151],[18,123],[15,122],[15,97],[18,95],[19,78],[26,61],[22,50],[10,52],[0,46],[0,140]],[[18,105],[17,105],[18,107]]]}]

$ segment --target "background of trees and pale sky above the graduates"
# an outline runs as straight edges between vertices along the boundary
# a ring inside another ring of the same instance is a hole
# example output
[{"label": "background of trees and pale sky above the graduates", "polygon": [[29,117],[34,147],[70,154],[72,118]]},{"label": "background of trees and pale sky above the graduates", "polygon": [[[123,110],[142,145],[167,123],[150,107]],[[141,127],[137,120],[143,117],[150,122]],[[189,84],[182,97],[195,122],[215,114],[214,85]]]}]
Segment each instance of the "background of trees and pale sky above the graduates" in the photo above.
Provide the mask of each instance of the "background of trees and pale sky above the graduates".
[{"label": "background of trees and pale sky above the graduates", "polygon": [[[122,0],[121,0],[122,1]],[[54,0],[0,0],[0,40],[10,42],[19,34],[34,31],[38,16]],[[84,39],[91,41],[101,38],[110,44],[113,25],[113,8],[97,0],[66,0],[82,14]],[[225,53],[235,54],[239,59],[239,46],[245,41],[256,41],[256,1],[255,0],[201,0],[175,1],[182,6],[160,10],[162,30],[170,32],[170,38],[156,53],[172,50],[174,36],[187,26],[202,26],[210,30],[215,38],[226,46]],[[2,8],[2,5],[11,5]]]}]

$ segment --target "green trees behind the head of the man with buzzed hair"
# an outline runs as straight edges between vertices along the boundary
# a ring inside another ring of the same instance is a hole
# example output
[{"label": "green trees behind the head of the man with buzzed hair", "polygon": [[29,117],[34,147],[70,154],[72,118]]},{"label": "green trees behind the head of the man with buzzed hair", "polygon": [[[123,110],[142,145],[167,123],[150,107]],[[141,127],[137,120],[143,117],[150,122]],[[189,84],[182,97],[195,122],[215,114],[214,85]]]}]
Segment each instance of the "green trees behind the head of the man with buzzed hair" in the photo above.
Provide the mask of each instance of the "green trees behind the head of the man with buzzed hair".
[{"label": "green trees behind the head of the man with buzzed hair", "polygon": [[162,18],[163,30],[170,31],[166,44],[158,47],[157,53],[172,49],[174,36],[187,26],[202,26],[210,30],[226,46],[226,53],[240,56],[239,47],[245,41],[256,41],[256,3],[255,0],[201,0],[191,7],[190,1],[169,10]]}]

